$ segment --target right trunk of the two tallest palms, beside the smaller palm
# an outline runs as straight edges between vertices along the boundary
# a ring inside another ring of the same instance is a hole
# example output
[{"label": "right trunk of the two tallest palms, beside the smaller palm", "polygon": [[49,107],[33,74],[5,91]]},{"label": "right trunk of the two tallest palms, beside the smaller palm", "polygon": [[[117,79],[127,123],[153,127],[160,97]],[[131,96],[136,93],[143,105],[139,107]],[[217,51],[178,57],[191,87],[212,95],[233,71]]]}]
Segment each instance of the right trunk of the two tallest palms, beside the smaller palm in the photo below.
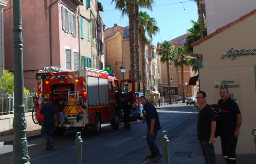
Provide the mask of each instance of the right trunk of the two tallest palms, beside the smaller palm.
[{"label": "right trunk of the two tallest palms, beside the smaller palm", "polygon": [[135,5],[135,66],[138,92],[140,92],[140,64],[139,64],[139,6]]}]

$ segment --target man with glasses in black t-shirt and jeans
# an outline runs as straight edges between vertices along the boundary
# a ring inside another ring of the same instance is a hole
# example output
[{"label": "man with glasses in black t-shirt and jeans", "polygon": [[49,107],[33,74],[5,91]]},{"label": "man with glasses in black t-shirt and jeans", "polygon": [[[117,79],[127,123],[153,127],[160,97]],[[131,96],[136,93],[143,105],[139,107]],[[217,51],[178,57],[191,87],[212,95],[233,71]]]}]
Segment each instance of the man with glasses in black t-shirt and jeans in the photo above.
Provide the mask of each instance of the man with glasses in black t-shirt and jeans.
[{"label": "man with glasses in black t-shirt and jeans", "polygon": [[215,164],[215,152],[213,143],[216,129],[215,115],[212,108],[206,103],[206,93],[197,92],[196,99],[200,105],[197,120],[197,138],[200,140],[201,149],[207,164]]}]

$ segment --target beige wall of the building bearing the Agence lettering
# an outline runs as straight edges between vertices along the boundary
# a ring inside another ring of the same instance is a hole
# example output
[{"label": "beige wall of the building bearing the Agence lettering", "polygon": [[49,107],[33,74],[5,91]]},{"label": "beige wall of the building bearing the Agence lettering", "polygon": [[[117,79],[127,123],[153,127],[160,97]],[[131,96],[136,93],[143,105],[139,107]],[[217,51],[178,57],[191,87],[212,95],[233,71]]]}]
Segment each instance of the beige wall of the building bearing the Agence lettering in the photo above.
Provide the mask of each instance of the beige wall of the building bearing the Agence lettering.
[{"label": "beige wall of the building bearing the Agence lettering", "polygon": [[[243,15],[240,15],[243,16]],[[256,128],[256,94],[255,94],[255,55],[224,56],[228,50],[253,50],[255,46],[256,14],[253,14],[241,22],[213,35],[193,47],[194,54],[203,56],[204,68],[199,70],[200,89],[207,94],[208,104],[217,104],[218,82],[230,81],[235,88],[229,88],[230,96],[236,100],[242,114],[242,126],[237,142],[236,153],[255,153],[255,145],[252,141],[252,129]],[[218,85],[220,86],[220,85]],[[221,154],[220,137],[214,144],[215,153]]]}]

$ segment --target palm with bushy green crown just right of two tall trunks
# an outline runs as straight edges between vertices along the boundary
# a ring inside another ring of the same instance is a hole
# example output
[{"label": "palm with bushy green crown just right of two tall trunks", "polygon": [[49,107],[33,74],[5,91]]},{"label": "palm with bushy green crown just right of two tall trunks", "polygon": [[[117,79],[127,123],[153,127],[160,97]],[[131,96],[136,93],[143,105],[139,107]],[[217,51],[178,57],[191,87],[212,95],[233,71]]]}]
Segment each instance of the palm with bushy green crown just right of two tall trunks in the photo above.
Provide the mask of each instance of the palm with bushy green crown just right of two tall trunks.
[{"label": "palm with bushy green crown just right of two tall trunks", "polygon": [[156,19],[154,17],[150,17],[150,15],[147,12],[139,12],[139,20],[140,20],[140,26],[139,26],[139,43],[140,43],[140,52],[141,52],[141,65],[142,65],[142,85],[143,85],[143,94],[145,95],[145,45],[146,45],[146,39],[145,37],[146,33],[150,36],[151,40],[153,35],[156,35],[157,32],[159,32],[159,28],[156,26]]}]

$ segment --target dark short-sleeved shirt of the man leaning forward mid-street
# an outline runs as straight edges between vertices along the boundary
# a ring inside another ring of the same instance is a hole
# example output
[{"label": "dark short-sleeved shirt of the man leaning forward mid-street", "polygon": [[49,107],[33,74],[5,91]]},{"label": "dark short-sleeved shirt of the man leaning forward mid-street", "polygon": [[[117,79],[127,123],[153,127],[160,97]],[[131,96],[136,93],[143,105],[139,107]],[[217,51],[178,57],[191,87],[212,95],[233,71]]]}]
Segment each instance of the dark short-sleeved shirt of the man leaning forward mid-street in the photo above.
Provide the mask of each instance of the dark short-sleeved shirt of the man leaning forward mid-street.
[{"label": "dark short-sleeved shirt of the man leaning forward mid-street", "polygon": [[155,119],[155,126],[154,129],[160,128],[160,121],[158,117],[158,113],[156,111],[156,108],[149,102],[143,106],[144,109],[144,117],[147,122],[148,130],[151,129],[151,119]]}]

